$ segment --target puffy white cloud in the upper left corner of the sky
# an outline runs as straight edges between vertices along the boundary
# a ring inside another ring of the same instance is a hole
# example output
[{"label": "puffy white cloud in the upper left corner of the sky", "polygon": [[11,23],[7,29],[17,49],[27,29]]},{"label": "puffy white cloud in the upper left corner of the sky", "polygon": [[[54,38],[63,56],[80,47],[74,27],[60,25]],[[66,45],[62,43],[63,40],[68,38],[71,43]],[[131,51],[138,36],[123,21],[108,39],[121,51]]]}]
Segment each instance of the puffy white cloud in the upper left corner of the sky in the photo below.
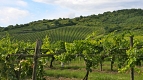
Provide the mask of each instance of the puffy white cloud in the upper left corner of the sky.
[{"label": "puffy white cloud in the upper left corner of the sky", "polygon": [[2,0],[0,4],[0,26],[15,25],[30,14],[24,10],[28,6],[24,0]]}]

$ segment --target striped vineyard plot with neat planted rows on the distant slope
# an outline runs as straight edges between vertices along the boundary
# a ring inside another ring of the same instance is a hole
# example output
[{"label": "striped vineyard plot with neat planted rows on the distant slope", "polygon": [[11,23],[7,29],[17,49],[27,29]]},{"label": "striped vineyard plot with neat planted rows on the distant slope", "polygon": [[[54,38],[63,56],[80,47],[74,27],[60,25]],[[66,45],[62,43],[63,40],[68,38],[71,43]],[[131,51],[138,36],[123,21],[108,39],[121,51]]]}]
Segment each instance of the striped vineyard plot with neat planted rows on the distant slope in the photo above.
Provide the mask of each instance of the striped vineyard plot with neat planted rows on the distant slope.
[{"label": "striped vineyard plot with neat planted rows on the distant slope", "polygon": [[80,27],[80,26],[68,26],[56,29],[45,30],[41,32],[33,32],[27,34],[15,34],[14,39],[24,41],[36,41],[36,39],[42,39],[45,35],[50,37],[51,42],[59,40],[72,42],[73,40],[85,39],[88,34],[91,34],[95,30],[94,27]]}]

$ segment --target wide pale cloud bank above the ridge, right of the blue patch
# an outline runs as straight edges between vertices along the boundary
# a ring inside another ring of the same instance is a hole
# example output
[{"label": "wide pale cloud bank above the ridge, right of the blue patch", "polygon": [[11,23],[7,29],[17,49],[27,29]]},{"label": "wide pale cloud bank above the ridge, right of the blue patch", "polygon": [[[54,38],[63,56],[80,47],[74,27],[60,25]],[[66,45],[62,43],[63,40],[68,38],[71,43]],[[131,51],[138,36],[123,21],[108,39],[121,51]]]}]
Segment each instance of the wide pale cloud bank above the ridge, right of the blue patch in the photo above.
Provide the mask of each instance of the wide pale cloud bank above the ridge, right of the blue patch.
[{"label": "wide pale cloud bank above the ridge, right of the blue patch", "polygon": [[[141,0],[33,0],[43,5],[56,6],[52,14],[47,12],[46,18],[68,17],[73,18],[80,15],[102,14],[106,11],[120,9],[140,8],[143,4]],[[140,4],[140,5],[139,5]],[[58,9],[57,9],[58,7]],[[143,6],[142,6],[143,8]]]}]

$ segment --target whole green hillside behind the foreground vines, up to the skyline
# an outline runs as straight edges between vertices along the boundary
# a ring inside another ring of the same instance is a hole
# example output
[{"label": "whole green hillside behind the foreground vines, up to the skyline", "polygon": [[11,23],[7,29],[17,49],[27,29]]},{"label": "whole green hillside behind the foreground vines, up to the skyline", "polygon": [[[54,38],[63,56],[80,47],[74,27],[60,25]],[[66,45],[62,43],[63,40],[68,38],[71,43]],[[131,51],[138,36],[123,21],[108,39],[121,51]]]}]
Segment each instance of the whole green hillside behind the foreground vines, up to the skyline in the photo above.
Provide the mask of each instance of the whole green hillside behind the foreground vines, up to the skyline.
[{"label": "whole green hillside behind the foreground vines, up to the skyline", "polygon": [[135,35],[142,36],[143,10],[123,9],[73,19],[43,19],[27,24],[9,25],[5,28],[0,27],[0,38],[8,32],[12,39],[17,40],[36,41],[48,35],[51,42],[58,40],[72,42],[84,39],[92,32],[97,32],[97,35],[106,35],[114,30],[119,33],[131,31]]}]

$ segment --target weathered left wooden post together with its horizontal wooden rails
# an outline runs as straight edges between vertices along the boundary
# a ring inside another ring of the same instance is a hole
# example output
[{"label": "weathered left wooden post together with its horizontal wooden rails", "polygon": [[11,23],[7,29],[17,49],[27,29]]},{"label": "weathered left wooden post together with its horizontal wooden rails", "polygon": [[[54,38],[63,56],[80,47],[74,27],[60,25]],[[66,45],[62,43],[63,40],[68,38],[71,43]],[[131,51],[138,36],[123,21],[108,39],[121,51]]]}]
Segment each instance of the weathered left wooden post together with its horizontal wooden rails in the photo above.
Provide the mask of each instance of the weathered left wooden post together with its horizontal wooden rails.
[{"label": "weathered left wooden post together with its horizontal wooden rails", "polygon": [[[38,58],[40,57],[48,57],[53,56],[53,54],[41,54],[41,51],[49,51],[49,49],[41,49],[42,41],[37,40],[35,49],[26,49],[26,50],[35,50],[34,54],[10,54],[9,56],[21,56],[21,57],[31,57],[33,58],[33,72],[32,72],[32,80],[37,80],[37,66],[38,66]],[[18,80],[20,80],[20,72],[18,75]]]}]

